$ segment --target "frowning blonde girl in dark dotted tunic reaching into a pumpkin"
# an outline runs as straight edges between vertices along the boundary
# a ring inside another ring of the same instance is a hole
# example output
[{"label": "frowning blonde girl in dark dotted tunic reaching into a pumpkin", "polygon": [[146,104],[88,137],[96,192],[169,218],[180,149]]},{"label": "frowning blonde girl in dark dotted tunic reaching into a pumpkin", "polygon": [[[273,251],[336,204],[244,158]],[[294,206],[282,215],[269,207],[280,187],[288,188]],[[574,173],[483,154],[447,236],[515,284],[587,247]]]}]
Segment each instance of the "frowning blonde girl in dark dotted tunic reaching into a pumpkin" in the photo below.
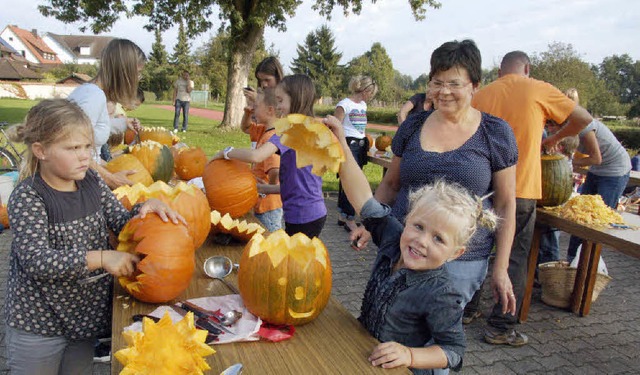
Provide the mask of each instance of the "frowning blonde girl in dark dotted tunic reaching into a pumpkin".
[{"label": "frowning blonde girl in dark dotted tunic reaching into a pumpkin", "polygon": [[9,198],[13,232],[5,309],[7,365],[14,375],[90,374],[96,337],[111,325],[111,277],[131,275],[139,258],[109,251],[139,213],[184,219],[152,199],[127,211],[89,168],[95,147],[89,118],[65,99],[43,100],[10,129],[27,149],[21,182]]}]

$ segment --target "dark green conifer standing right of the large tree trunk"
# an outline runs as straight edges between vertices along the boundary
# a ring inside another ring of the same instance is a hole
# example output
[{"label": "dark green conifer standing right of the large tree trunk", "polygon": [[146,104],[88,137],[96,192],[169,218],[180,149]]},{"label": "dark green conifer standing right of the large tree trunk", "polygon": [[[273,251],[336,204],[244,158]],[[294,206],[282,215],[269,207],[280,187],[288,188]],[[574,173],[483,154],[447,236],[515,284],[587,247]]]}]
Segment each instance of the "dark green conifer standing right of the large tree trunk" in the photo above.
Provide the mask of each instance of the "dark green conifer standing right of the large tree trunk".
[{"label": "dark green conifer standing right of the large tree trunk", "polygon": [[339,94],[342,53],[334,47],[335,38],[326,25],[307,34],[304,45],[298,44],[296,57],[291,63],[294,73],[306,74],[314,80],[319,97]]}]

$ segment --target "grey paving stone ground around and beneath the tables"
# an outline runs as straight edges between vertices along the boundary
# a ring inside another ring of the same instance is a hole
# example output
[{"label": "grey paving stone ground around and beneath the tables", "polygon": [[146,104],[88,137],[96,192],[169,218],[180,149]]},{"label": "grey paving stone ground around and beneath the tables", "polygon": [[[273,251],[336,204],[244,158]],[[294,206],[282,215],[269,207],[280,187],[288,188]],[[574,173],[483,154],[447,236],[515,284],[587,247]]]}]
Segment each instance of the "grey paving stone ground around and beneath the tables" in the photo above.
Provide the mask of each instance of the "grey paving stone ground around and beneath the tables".
[{"label": "grey paving stone ground around and beneath the tables", "polygon": [[[331,253],[332,293],[357,316],[375,251],[353,251],[347,233],[336,225],[336,197],[329,196],[326,203],[329,217],[320,237]],[[10,231],[0,235],[3,306],[10,240]],[[564,249],[567,237],[563,236],[562,241]],[[538,289],[533,295],[529,321],[518,327],[529,335],[530,344],[521,348],[486,344],[482,341],[485,323],[476,321],[466,326],[468,348],[459,374],[640,373],[640,260],[608,249],[603,256],[613,281],[592,305],[590,315],[580,318],[544,305]],[[484,296],[482,307],[488,313],[489,293]],[[4,321],[4,312],[0,312],[0,319]],[[0,346],[0,374],[6,374],[4,325],[0,325]],[[107,365],[94,368],[94,374],[108,373]]]}]

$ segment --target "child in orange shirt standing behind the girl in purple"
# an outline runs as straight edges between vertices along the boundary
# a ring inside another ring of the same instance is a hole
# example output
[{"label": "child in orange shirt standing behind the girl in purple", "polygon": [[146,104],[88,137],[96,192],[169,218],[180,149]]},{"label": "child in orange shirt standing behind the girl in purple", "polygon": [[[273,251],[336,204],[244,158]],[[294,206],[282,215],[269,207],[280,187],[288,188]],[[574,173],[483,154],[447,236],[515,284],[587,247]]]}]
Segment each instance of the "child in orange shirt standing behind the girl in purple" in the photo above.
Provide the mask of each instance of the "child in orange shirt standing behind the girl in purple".
[{"label": "child in orange shirt standing behind the girl in purple", "polygon": [[[276,119],[276,104],[275,89],[258,89],[253,110],[257,123],[251,122],[248,126],[242,123],[242,131],[249,134],[252,148],[260,148],[275,134],[273,122]],[[278,185],[280,155],[273,154],[261,162],[253,163],[252,170],[258,183]],[[280,194],[261,196],[253,212],[268,231],[275,232],[282,228],[283,212]]]}]

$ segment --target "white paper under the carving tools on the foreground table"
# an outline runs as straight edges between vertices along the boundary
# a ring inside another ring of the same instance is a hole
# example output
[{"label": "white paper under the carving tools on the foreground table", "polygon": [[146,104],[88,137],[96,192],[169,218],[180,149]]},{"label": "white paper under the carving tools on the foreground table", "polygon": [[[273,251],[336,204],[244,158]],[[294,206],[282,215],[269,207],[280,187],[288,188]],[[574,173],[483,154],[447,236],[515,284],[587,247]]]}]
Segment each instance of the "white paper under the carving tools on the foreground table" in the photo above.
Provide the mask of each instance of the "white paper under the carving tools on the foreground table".
[{"label": "white paper under the carving tools on the foreground table", "polygon": [[[242,297],[239,294],[230,294],[226,296],[215,297],[202,297],[188,300],[194,305],[198,305],[206,310],[215,311],[220,309],[221,313],[226,313],[229,310],[238,310],[242,312],[242,318],[240,318],[234,325],[227,327],[235,335],[224,332],[218,336],[218,341],[213,344],[226,344],[230,342],[238,341],[257,341],[260,339],[258,336],[258,330],[262,325],[262,320],[253,315],[247,310],[242,302]],[[165,311],[169,312],[169,316],[174,323],[182,320],[182,316],[175,312],[171,307],[163,305],[153,310],[148,315],[162,318]],[[194,318],[197,318],[194,316]],[[125,331],[138,331],[142,332],[142,322],[135,322],[127,327],[124,327]]]}]

